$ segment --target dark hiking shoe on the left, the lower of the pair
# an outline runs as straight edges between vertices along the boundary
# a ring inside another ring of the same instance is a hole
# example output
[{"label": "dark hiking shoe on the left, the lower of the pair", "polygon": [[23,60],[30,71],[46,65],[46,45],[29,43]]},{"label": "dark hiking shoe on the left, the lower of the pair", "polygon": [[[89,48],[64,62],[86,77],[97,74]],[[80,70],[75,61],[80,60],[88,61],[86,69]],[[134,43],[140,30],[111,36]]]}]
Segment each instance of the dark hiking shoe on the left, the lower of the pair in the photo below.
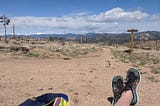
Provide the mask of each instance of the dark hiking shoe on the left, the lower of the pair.
[{"label": "dark hiking shoe on the left, the lower of the pair", "polygon": [[112,106],[118,101],[118,99],[121,97],[121,94],[123,92],[123,77],[122,76],[115,76],[112,80],[112,90],[114,94],[114,98],[112,101]]}]

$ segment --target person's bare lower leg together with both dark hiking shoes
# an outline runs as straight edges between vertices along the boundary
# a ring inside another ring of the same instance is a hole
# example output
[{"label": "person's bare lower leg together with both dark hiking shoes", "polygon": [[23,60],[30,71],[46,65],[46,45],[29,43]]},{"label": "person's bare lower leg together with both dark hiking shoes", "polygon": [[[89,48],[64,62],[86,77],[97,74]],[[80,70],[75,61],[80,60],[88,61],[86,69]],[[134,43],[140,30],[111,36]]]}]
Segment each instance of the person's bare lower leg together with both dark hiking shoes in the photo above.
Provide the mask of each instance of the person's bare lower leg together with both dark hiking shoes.
[{"label": "person's bare lower leg together with both dark hiking shoes", "polygon": [[137,69],[130,68],[127,72],[125,86],[123,86],[122,82],[123,78],[121,76],[115,76],[112,80],[114,93],[112,106],[130,106],[137,104],[137,86],[140,82],[140,72]]}]

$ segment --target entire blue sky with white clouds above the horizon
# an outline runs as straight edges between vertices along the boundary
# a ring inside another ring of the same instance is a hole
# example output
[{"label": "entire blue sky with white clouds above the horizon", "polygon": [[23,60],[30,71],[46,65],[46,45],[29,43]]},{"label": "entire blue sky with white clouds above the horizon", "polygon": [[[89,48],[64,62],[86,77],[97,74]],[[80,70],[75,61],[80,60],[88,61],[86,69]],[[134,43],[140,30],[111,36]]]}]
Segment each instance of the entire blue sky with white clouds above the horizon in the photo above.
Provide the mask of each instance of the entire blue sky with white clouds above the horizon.
[{"label": "entire blue sky with white clouds above the horizon", "polygon": [[160,0],[0,0],[4,14],[7,33],[13,25],[17,34],[160,31]]}]

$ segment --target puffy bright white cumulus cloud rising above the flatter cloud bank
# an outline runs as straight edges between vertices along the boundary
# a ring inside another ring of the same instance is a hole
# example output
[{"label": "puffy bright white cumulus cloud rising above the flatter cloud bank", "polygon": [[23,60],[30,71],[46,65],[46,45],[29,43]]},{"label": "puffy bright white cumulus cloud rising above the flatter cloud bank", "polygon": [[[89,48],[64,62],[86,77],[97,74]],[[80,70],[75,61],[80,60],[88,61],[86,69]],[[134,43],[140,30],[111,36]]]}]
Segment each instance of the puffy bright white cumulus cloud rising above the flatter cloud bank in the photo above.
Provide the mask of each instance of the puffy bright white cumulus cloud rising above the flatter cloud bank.
[{"label": "puffy bright white cumulus cloud rising above the flatter cloud bank", "polygon": [[[100,13],[98,15],[93,15],[92,21],[97,22],[115,22],[115,21],[137,21],[147,17],[147,13],[142,13],[141,11],[125,12],[122,8],[114,8],[109,11]],[[89,19],[90,20],[90,19]]]}]

